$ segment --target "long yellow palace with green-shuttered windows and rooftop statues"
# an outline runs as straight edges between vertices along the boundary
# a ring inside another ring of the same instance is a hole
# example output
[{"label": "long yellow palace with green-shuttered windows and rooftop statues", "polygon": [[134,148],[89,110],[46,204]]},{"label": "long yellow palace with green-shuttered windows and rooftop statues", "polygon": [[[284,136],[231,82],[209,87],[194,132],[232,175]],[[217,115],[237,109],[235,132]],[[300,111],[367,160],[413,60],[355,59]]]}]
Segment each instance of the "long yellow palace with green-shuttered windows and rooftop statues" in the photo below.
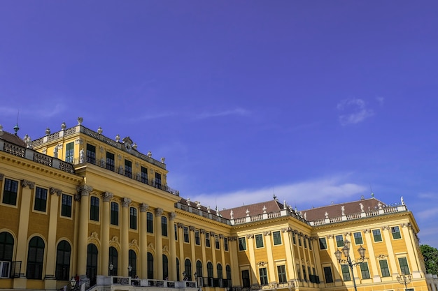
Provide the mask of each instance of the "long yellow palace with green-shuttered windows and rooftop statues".
[{"label": "long yellow palace with green-shuttered windows and rooftop statues", "polygon": [[164,158],[83,120],[31,140],[0,126],[0,289],[437,291],[403,199],[219,211]]}]

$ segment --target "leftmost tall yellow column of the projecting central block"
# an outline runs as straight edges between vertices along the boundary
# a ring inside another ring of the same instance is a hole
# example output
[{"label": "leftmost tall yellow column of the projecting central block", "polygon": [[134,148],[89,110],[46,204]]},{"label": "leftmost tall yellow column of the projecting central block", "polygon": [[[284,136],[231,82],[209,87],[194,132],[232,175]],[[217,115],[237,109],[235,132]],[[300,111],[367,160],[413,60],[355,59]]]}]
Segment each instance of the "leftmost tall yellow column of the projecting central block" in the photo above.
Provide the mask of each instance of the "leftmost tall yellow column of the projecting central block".
[{"label": "leftmost tall yellow column of the projecting central block", "polygon": [[78,275],[87,278],[87,242],[88,242],[88,217],[90,211],[90,193],[93,188],[87,185],[79,186],[80,217],[78,230]]}]

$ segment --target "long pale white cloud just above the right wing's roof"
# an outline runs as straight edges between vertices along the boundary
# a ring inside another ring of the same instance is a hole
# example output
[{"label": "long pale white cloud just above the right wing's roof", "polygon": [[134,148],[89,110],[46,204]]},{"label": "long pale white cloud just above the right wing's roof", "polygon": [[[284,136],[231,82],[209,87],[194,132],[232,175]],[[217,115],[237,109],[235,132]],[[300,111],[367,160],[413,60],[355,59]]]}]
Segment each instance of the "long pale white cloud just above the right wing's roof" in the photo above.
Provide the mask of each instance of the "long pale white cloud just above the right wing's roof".
[{"label": "long pale white cloud just above the right wing's roof", "polygon": [[308,209],[312,206],[327,205],[334,199],[342,202],[353,195],[357,195],[360,199],[359,195],[367,191],[367,187],[344,181],[344,178],[345,175],[339,175],[259,189],[242,189],[229,193],[202,193],[190,199],[200,201],[203,205],[210,205],[212,208],[217,204],[219,209],[229,209],[241,206],[236,202],[252,204],[271,200],[275,193],[281,201],[286,200],[288,204],[297,205],[299,209]]}]

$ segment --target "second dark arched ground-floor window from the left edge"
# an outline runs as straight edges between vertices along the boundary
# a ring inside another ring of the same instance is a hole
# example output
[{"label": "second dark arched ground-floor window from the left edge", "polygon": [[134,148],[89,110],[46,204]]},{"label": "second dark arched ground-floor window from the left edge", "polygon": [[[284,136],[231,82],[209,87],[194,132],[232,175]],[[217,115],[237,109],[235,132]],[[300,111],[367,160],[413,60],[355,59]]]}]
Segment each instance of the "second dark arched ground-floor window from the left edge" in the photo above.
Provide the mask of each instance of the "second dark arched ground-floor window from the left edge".
[{"label": "second dark arched ground-floor window from the left edge", "polygon": [[43,277],[44,248],[45,244],[41,237],[33,237],[29,241],[26,278],[41,280]]}]

